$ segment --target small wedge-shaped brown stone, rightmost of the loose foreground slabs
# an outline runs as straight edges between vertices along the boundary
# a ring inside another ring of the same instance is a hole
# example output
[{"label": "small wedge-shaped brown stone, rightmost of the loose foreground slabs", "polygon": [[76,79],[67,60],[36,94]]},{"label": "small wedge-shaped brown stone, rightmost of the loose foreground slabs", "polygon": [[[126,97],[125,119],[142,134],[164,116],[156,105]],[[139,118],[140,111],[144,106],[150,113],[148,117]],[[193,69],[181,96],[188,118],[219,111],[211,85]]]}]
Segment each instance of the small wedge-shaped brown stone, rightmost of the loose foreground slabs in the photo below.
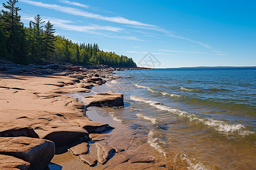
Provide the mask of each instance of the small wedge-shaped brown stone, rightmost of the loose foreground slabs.
[{"label": "small wedge-shaped brown stone, rightmost of the loose foreground slabs", "polygon": [[97,142],[96,146],[97,146],[98,162],[100,162],[101,164],[106,163],[115,154],[114,148],[109,147],[104,143]]}]

